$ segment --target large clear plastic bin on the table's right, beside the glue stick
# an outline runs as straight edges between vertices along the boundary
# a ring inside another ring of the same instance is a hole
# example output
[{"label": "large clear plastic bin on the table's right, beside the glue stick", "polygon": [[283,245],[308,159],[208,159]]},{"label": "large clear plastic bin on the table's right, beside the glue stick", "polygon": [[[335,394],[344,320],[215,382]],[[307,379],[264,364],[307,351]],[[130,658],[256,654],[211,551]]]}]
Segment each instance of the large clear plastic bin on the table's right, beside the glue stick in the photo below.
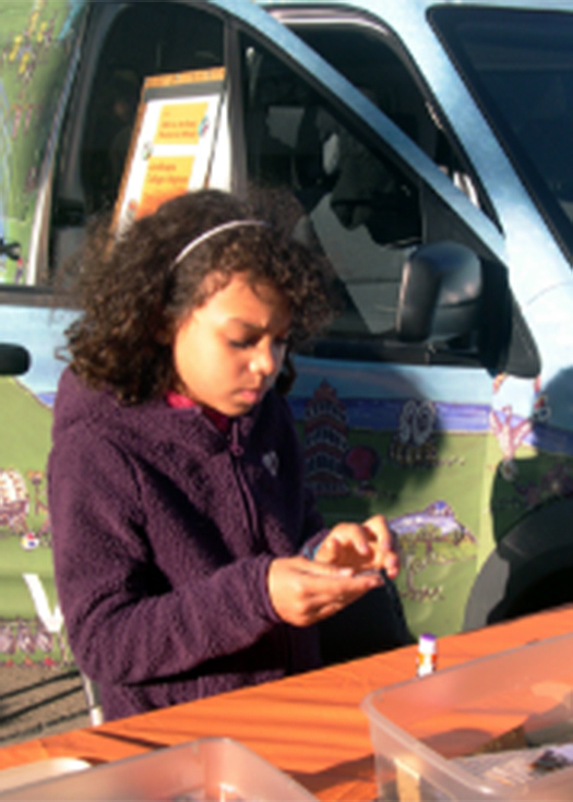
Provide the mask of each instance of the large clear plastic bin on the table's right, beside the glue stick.
[{"label": "large clear plastic bin on the table's right, beside the glue stick", "polygon": [[361,707],[381,800],[573,800],[573,635],[373,691]]}]

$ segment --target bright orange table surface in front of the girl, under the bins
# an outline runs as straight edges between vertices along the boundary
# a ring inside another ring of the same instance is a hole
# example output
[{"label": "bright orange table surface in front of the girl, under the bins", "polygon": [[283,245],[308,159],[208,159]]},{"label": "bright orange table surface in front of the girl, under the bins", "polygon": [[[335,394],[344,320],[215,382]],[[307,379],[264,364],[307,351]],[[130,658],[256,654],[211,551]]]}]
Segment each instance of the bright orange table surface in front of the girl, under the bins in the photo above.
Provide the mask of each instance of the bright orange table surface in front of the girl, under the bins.
[{"label": "bright orange table surface in front of the girl, under the bins", "polygon": [[[573,606],[443,637],[439,668],[573,632]],[[100,727],[0,749],[0,769],[49,757],[93,764],[196,738],[226,735],[291,775],[320,800],[375,798],[368,720],[359,708],[377,687],[415,674],[416,647],[333,666],[253,689]]]}]

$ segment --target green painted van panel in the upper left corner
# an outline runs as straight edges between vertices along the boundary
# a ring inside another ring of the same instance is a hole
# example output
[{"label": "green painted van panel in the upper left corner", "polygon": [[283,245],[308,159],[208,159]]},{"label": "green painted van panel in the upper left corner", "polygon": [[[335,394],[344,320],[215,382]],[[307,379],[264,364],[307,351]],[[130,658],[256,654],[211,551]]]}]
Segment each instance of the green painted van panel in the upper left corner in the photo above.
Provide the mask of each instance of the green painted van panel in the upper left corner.
[{"label": "green painted van panel in the upper left corner", "polygon": [[0,3],[0,283],[26,283],[43,165],[63,112],[85,7],[85,0]]}]

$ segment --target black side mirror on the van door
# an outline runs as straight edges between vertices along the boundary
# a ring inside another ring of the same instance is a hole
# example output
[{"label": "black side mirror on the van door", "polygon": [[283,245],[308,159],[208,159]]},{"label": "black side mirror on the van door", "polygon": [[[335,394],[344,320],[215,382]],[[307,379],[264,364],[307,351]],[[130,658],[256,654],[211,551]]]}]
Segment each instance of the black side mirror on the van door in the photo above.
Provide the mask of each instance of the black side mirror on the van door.
[{"label": "black side mirror on the van door", "polygon": [[457,242],[418,248],[404,265],[396,334],[404,343],[445,342],[476,327],[482,292],[481,263]]}]

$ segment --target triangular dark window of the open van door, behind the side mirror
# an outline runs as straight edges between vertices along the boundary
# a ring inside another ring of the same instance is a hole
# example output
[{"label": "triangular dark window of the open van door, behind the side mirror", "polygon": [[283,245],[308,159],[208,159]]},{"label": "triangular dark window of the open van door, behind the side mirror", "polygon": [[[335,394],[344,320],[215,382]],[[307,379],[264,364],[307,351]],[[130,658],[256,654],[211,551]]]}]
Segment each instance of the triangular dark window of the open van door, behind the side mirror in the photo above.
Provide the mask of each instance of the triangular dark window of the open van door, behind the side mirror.
[{"label": "triangular dark window of the open van door, behind the side mirror", "polygon": [[314,355],[478,364],[474,342],[429,354],[395,336],[406,259],[437,239],[479,252],[465,224],[290,67],[248,37],[241,52],[249,179],[294,190],[302,212],[298,232],[318,239],[341,286],[344,310]]}]

